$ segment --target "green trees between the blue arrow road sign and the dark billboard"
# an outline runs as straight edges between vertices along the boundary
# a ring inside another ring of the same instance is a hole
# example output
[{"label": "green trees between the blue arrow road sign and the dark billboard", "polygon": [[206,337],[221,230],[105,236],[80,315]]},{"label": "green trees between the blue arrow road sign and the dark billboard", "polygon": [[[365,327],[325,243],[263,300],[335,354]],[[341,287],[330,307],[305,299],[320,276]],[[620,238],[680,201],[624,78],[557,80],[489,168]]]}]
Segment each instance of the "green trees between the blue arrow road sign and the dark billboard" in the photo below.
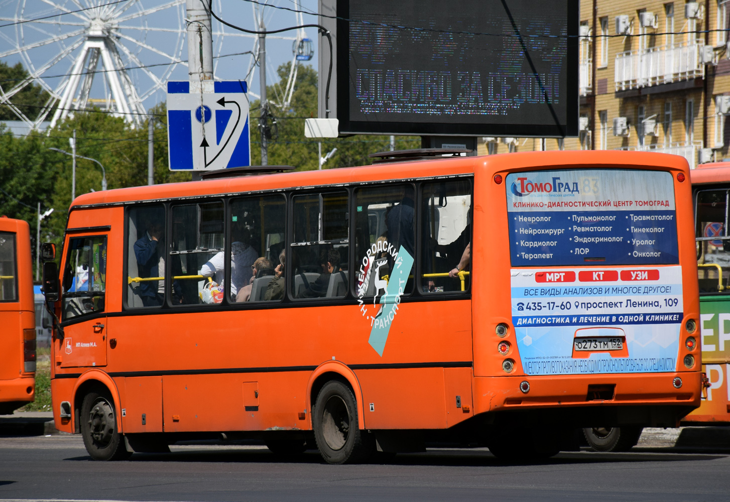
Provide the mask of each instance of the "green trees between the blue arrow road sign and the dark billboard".
[{"label": "green trees between the blue arrow road sign and the dark billboard", "polygon": [[[282,82],[286,82],[291,63],[285,63],[277,69],[280,83],[266,88],[270,96],[269,101],[277,101],[280,95]],[[296,85],[291,99],[291,107],[280,110],[271,106],[276,120],[278,135],[269,140],[269,165],[295,166],[298,171],[308,171],[318,168],[317,139],[304,137],[304,120],[316,117],[318,113],[318,76],[315,69],[309,65],[300,65],[296,78]],[[261,163],[261,130],[258,127],[261,104],[258,100],[250,106],[251,128],[251,163]],[[337,148],[337,152],[330,158],[323,169],[334,169],[347,166],[364,166],[372,163],[368,157],[374,152],[390,150],[388,136],[354,136],[351,138],[327,138],[322,140],[322,154]],[[420,148],[418,136],[396,136],[396,150]]]}]

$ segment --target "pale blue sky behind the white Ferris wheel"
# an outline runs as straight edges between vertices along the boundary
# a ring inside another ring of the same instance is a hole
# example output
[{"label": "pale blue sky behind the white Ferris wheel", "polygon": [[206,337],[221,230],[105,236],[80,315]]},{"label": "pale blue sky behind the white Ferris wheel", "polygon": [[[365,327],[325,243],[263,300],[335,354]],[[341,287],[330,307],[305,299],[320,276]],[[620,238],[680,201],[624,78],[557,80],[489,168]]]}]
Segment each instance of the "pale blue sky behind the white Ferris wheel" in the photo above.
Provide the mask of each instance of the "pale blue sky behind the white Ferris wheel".
[{"label": "pale blue sky behind the white Ferris wheel", "polygon": [[[265,0],[253,1],[264,3]],[[295,0],[269,0],[266,3],[264,20],[267,29],[296,26],[297,18],[293,12],[275,8],[293,9]],[[301,10],[317,11],[316,0],[299,0],[299,4]],[[88,9],[99,5],[103,7]],[[254,7],[258,6],[250,0],[213,0],[216,14],[229,23],[248,29],[254,28]],[[80,9],[85,10],[59,15]],[[81,51],[92,18],[106,19],[104,26],[116,24],[118,36],[115,37],[115,45],[126,67],[146,66],[146,72],[142,69],[129,70],[137,93],[144,99],[145,108],[166,99],[160,82],[188,80],[186,66],[169,64],[188,58],[184,0],[0,0],[0,60],[11,65],[23,63],[27,69],[38,72],[42,77],[39,83],[56,89],[66,75],[72,73],[74,58]],[[31,21],[18,23],[18,20]],[[305,24],[316,23],[317,17],[303,15],[303,21]],[[215,78],[245,80],[251,56],[239,53],[253,49],[255,36],[223,27],[216,20],[213,20],[212,31]],[[307,28],[305,33],[312,39],[315,55],[310,63],[316,66],[316,28]],[[291,61],[291,39],[295,36],[296,31],[267,36],[266,73],[269,85],[278,80],[277,66]],[[21,47],[23,50],[18,50]],[[101,61],[97,69],[102,69]],[[250,91],[256,95],[259,92],[258,81],[256,69],[253,78],[250,76],[247,80]],[[0,85],[7,92],[14,82],[0,82]],[[91,98],[104,99],[108,93],[104,79],[97,74]],[[272,99],[272,96],[269,98]]]}]

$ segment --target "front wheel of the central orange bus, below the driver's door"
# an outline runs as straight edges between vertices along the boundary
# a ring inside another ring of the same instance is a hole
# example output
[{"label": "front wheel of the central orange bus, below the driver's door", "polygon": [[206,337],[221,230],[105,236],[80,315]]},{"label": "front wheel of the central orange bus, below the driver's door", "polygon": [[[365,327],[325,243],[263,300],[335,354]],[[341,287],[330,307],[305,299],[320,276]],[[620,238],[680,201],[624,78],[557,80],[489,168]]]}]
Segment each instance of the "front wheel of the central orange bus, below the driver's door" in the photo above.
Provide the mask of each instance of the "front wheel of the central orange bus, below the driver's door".
[{"label": "front wheel of the central orange bus, below the driver's door", "polygon": [[94,460],[125,460],[131,455],[117,429],[114,400],[109,393],[92,391],[85,395],[80,422],[84,446]]}]

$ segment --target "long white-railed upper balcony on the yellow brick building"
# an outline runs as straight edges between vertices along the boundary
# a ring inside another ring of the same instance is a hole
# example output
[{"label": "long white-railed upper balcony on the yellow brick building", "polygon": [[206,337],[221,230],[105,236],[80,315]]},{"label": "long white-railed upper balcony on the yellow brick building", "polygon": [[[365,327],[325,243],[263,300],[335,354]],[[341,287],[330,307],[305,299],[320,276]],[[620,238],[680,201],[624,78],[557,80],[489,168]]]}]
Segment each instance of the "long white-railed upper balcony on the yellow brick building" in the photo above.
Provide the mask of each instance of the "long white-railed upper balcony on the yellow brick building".
[{"label": "long white-railed upper balcony on the yellow brick building", "polygon": [[682,42],[672,47],[661,45],[616,55],[616,90],[679,82],[704,77],[702,40]]}]

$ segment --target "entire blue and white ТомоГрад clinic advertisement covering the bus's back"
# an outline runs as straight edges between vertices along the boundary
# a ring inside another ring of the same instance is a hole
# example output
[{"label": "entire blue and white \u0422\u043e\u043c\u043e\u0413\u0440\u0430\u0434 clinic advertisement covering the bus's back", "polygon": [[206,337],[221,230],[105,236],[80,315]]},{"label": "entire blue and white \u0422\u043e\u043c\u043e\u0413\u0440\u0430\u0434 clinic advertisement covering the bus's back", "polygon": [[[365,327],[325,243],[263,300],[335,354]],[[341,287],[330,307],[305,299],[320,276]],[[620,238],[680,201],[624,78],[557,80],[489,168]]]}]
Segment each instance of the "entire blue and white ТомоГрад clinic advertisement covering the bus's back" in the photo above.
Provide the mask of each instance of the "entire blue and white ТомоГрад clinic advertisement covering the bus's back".
[{"label": "entire blue and white \u0422\u043e\u043c\u043e\u0413\u0440\u0430\u0434 clinic advertisement covering the bus's back", "polygon": [[675,371],[683,296],[672,175],[538,171],[506,185],[525,373]]}]

